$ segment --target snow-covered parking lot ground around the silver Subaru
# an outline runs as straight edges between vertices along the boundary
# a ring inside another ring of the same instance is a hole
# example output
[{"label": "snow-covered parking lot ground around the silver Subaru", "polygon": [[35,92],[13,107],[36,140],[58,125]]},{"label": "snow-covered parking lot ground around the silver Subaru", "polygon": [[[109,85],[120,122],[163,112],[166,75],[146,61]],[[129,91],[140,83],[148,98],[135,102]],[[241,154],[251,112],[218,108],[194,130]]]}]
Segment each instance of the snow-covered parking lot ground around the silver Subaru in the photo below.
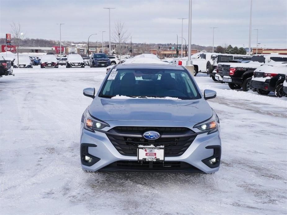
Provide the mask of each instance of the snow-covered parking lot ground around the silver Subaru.
[{"label": "snow-covered parking lot ground around the silver Subaru", "polygon": [[86,173],[79,125],[105,68],[14,69],[0,79],[1,214],[283,214],[287,98],[230,90],[204,74],[221,120],[213,174]]}]

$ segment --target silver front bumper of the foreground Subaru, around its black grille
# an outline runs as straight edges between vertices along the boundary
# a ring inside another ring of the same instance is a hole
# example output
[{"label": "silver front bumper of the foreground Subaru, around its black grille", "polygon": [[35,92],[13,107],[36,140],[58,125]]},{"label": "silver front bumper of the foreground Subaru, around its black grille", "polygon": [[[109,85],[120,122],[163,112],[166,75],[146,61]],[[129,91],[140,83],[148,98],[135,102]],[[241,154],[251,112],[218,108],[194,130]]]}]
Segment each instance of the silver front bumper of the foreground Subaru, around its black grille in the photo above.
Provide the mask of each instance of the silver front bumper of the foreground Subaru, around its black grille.
[{"label": "silver front bumper of the foreground Subaru, around its black grille", "polygon": [[[156,123],[157,122],[152,122],[152,125],[162,126],[162,125],[156,125]],[[128,126],[128,125],[121,125],[121,126]],[[145,125],[133,125],[133,126],[145,126]],[[182,127],[182,125],[177,126]],[[218,171],[219,169],[220,156],[221,156],[221,139],[219,131],[216,131],[211,134],[207,133],[197,134],[194,141],[181,156],[165,157],[164,162],[167,164],[172,165],[174,162],[177,163],[182,162],[182,164],[187,164],[189,166],[189,168],[183,168],[183,169],[168,168],[168,166],[167,168],[165,168],[164,165],[162,166],[162,168],[159,169],[145,168],[145,166],[142,166],[142,168],[139,169],[133,169],[130,168],[131,165],[115,166],[115,164],[117,162],[119,163],[119,161],[123,161],[126,163],[130,161],[131,164],[138,164],[137,166],[141,167],[140,162],[138,162],[137,160],[137,156],[124,156],[120,154],[105,133],[98,131],[95,132],[88,131],[83,128],[83,123],[81,123],[80,143],[81,143],[80,153],[81,153],[82,168],[93,172],[98,170],[100,171],[134,170],[134,171],[175,171],[175,172],[213,173]],[[95,161],[95,163],[92,163],[92,165],[85,163],[85,161],[83,160],[83,149],[84,151],[86,151],[86,153],[88,153],[88,155],[91,155],[90,157],[94,157],[92,161]],[[210,157],[213,157],[215,153],[217,154],[219,153],[218,165],[214,165],[212,166],[212,168],[210,168],[206,164],[205,160],[209,159]]]}]

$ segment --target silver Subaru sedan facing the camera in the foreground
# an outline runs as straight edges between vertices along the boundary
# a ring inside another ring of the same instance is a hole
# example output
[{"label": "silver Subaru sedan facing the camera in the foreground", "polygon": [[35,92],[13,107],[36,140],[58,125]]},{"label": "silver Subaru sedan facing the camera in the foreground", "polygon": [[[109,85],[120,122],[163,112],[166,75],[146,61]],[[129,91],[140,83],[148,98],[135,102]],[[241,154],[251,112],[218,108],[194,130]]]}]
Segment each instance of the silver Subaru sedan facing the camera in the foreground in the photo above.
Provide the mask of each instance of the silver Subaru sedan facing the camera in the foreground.
[{"label": "silver Subaru sedan facing the camera in the foreground", "polygon": [[219,119],[186,68],[117,64],[81,119],[80,157],[88,171],[218,171]]}]

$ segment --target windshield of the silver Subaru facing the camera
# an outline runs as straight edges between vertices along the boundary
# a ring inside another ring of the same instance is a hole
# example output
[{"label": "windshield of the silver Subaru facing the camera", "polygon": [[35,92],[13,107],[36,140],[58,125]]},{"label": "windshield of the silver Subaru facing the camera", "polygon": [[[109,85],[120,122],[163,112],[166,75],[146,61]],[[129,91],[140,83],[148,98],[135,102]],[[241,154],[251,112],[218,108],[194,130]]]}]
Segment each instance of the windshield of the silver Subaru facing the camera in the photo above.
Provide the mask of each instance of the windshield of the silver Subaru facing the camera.
[{"label": "windshield of the silver Subaru facing the camera", "polygon": [[200,99],[200,94],[186,70],[113,69],[106,79],[100,97],[173,97]]}]

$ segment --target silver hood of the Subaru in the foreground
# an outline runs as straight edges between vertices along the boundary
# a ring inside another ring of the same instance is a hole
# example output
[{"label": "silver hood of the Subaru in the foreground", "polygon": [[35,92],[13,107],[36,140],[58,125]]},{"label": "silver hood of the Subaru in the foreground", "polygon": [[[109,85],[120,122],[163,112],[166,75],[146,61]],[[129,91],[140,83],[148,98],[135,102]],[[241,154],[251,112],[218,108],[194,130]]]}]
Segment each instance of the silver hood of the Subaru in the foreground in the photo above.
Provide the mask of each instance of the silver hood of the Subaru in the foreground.
[{"label": "silver hood of the Subaru in the foreground", "polygon": [[202,122],[213,112],[204,99],[104,99],[96,97],[89,107],[92,116],[102,121],[190,121]]}]

